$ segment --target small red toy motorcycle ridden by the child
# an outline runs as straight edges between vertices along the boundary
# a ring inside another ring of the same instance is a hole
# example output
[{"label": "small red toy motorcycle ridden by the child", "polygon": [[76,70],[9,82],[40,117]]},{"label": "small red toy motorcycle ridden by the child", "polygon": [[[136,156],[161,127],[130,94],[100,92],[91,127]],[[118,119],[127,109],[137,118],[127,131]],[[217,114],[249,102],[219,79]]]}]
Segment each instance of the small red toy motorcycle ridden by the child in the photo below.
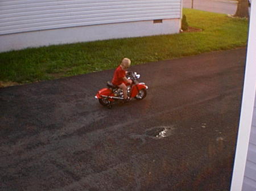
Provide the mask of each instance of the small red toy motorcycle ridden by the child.
[{"label": "small red toy motorcycle ridden by the child", "polygon": [[[133,98],[142,100],[147,95],[148,87],[145,83],[138,82],[139,78],[141,78],[141,75],[136,72],[129,71],[127,73],[127,79],[131,79],[133,81],[132,84],[126,84],[127,96],[130,98],[129,100],[132,100]],[[101,105],[112,108],[114,103],[124,100],[123,91],[118,86],[114,86],[111,82],[107,82],[107,86],[107,88],[102,88],[98,91],[94,97],[98,99]]]}]

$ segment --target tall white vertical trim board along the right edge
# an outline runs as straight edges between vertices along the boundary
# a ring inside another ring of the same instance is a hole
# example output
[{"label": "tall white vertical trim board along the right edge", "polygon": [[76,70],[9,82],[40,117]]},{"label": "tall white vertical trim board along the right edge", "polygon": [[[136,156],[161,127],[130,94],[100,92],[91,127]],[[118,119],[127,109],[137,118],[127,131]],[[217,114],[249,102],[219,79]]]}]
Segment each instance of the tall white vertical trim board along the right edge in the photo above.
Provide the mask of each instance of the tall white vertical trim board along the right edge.
[{"label": "tall white vertical trim board along the right edge", "polygon": [[245,68],[245,81],[243,86],[242,107],[240,125],[238,130],[236,156],[233,168],[233,177],[230,191],[242,191],[243,177],[245,175],[245,165],[251,122],[253,118],[255,84],[256,84],[256,2],[251,3],[249,39],[247,46],[247,59]]}]

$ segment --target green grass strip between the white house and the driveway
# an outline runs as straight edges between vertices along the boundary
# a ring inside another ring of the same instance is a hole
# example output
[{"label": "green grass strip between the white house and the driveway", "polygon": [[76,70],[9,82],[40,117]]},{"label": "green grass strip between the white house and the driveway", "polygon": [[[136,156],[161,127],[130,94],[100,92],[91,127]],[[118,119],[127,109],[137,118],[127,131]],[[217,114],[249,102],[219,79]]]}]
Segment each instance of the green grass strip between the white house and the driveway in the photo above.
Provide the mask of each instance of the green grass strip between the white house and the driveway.
[{"label": "green grass strip between the white house and the driveway", "polygon": [[183,9],[189,27],[201,32],[44,46],[0,53],[0,81],[28,83],[117,67],[123,57],[132,65],[246,46],[248,21]]}]

